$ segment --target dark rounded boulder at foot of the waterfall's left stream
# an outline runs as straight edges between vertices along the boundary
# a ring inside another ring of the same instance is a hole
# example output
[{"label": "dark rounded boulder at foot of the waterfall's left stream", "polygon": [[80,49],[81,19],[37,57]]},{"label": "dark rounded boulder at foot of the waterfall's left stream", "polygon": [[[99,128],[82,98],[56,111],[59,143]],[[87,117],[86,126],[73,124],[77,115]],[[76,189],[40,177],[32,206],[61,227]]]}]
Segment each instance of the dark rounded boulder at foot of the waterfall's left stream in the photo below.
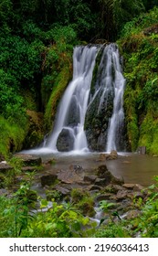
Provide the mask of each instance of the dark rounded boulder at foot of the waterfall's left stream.
[{"label": "dark rounded boulder at foot of the waterfall's left stream", "polygon": [[57,148],[58,151],[68,152],[73,149],[74,137],[68,129],[62,129],[58,135]]}]

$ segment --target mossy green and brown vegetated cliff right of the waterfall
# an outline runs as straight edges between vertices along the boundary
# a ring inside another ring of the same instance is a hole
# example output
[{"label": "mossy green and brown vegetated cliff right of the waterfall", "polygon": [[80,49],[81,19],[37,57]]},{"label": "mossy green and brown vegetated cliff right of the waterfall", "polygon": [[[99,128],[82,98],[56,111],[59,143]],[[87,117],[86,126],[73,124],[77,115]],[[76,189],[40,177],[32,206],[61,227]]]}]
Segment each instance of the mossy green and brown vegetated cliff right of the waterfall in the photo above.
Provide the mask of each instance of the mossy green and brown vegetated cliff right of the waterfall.
[{"label": "mossy green and brown vegetated cliff right of the waterfall", "polygon": [[118,41],[127,80],[124,110],[132,151],[158,154],[158,8],[127,23]]}]

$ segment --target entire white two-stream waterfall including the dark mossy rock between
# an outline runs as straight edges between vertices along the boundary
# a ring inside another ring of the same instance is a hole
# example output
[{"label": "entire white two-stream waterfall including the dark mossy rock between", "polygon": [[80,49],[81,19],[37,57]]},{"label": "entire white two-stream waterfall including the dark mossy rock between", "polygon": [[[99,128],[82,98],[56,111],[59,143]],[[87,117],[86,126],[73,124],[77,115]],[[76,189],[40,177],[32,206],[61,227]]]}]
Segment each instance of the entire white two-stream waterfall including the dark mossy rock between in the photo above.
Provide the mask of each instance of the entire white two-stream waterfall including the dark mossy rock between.
[{"label": "entire white two-stream waterfall including the dark mossy rock between", "polygon": [[45,147],[59,152],[125,150],[124,86],[116,44],[75,47],[73,78]]}]

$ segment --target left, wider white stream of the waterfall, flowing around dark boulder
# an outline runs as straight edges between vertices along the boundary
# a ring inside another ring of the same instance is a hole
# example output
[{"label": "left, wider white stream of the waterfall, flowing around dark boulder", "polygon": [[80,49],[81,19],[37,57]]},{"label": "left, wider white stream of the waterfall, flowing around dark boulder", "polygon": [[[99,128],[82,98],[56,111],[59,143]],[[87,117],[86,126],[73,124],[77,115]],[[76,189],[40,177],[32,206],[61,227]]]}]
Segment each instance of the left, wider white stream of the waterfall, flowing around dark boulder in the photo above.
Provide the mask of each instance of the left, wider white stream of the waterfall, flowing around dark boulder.
[{"label": "left, wider white stream of the waterfall, flowing around dark boulder", "polygon": [[97,51],[96,46],[74,48],[73,79],[59,104],[54,131],[47,143],[52,150],[88,149],[84,121]]}]

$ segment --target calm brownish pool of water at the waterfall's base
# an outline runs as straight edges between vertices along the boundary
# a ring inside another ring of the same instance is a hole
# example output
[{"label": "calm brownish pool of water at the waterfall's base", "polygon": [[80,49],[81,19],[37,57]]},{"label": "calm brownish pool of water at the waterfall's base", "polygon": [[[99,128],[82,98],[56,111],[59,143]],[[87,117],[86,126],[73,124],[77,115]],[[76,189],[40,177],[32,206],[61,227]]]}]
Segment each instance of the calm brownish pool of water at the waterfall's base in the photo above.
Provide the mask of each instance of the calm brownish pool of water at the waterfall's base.
[{"label": "calm brownish pool of water at the waterfall's base", "polygon": [[158,176],[158,157],[119,153],[116,160],[99,161],[100,153],[52,153],[51,151],[27,151],[26,154],[40,155],[43,159],[55,158],[57,169],[67,170],[70,165],[81,165],[84,169],[106,164],[114,176],[122,176],[125,183],[153,184],[153,176]]}]

